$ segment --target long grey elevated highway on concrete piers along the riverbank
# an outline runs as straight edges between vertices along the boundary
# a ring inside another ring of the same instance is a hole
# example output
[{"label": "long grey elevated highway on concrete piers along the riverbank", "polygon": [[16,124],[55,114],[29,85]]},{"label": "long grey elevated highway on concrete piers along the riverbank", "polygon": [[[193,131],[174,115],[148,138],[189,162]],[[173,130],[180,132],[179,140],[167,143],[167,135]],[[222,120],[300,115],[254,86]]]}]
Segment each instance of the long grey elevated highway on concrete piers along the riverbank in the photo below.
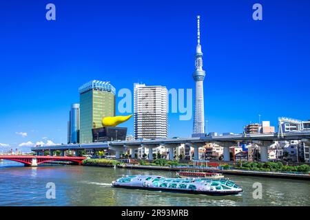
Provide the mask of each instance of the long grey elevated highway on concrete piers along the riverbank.
[{"label": "long grey elevated highway on concrete piers along the riverbank", "polygon": [[[102,151],[110,148],[116,152],[116,158],[120,157],[121,151],[126,151],[130,148],[132,151],[132,158],[134,158],[134,149],[141,146],[152,149],[157,146],[165,146],[169,148],[169,158],[174,158],[174,148],[180,146],[180,144],[190,144],[194,147],[194,159],[198,159],[198,148],[204,146],[207,143],[216,143],[224,148],[224,161],[229,161],[229,147],[236,146],[236,143],[254,143],[260,146],[260,157],[262,162],[268,161],[268,147],[275,141],[289,141],[300,140],[309,144],[310,132],[291,132],[283,133],[279,136],[277,133],[270,134],[236,134],[236,135],[223,135],[223,136],[207,136],[207,137],[180,137],[180,138],[162,138],[162,139],[141,139],[130,141],[113,141],[113,142],[99,142],[89,144],[63,144],[56,146],[38,146],[33,147],[32,151],[37,155],[41,155],[43,151],[74,151],[79,152],[81,150],[93,150]],[[77,155],[77,154],[76,154]],[[152,158],[152,151],[149,151],[149,158]]]}]

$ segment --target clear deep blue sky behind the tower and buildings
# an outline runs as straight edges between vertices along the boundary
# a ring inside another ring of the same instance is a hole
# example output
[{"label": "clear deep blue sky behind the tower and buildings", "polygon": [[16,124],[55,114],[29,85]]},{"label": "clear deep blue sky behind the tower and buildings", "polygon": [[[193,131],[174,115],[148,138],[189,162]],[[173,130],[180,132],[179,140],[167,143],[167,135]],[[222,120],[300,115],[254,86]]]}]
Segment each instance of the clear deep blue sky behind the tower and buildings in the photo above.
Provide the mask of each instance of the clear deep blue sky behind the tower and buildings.
[{"label": "clear deep blue sky behind the tower and buildings", "polygon": [[[48,3],[56,21],[45,19]],[[263,21],[252,19],[254,3]],[[0,151],[66,142],[70,105],[89,80],[194,88],[197,14],[208,132],[241,133],[259,114],[273,126],[279,116],[308,120],[309,8],[307,0],[3,1]],[[178,118],[169,114],[169,135],[188,137],[192,120]],[[133,133],[133,119],[123,125]]]}]

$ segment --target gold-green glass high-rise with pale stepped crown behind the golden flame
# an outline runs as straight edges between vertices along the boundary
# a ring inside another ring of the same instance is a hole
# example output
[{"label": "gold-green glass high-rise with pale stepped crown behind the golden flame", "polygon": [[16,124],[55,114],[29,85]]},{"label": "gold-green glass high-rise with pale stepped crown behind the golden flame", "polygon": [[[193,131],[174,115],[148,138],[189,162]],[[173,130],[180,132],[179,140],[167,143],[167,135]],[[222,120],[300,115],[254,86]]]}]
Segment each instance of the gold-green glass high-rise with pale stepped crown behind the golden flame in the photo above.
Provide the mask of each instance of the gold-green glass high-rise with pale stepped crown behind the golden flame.
[{"label": "gold-green glass high-rise with pale stepped crown behind the golden flame", "polygon": [[93,141],[92,129],[102,127],[102,119],[115,116],[116,89],[109,83],[92,80],[79,88],[80,142]]}]

